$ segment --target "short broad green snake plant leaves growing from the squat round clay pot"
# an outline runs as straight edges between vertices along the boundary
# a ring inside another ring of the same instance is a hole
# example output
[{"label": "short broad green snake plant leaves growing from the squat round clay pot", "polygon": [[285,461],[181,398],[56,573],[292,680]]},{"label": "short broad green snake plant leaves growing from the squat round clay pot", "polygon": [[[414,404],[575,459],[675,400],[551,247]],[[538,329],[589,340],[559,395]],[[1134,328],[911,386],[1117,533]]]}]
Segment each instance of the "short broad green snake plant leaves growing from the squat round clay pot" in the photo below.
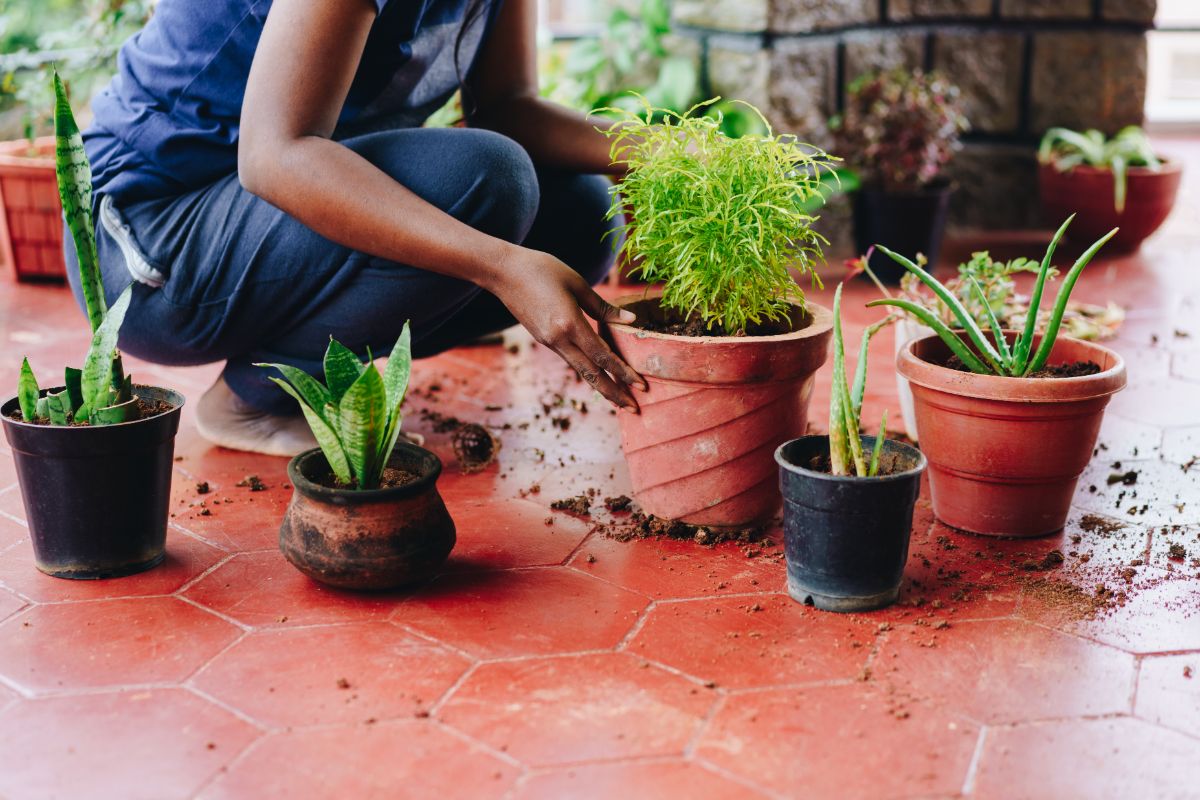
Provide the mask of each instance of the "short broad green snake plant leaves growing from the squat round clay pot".
[{"label": "short broad green snake plant leaves growing from the squat round clay pot", "polygon": [[271,380],[300,403],[337,482],[356,489],[377,489],[400,439],[400,405],[408,391],[412,363],[410,335],[404,323],[383,373],[370,353],[364,363],[334,338],[325,350],[324,384],[286,363],[257,366],[283,374]]}]

